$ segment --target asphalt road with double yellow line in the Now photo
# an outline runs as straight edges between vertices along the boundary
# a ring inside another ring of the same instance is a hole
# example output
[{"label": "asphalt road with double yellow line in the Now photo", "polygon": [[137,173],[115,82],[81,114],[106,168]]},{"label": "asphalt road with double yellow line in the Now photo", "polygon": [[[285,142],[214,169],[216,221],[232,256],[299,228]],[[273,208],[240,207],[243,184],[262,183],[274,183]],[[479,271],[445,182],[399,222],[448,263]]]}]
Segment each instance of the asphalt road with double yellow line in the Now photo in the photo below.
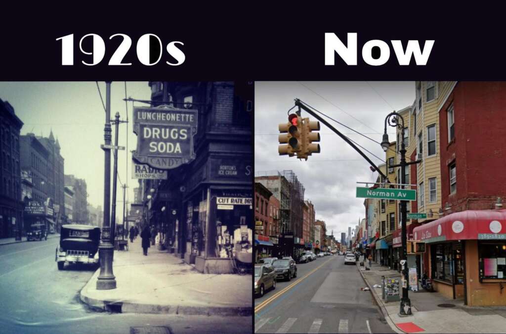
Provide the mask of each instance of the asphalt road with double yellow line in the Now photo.
[{"label": "asphalt road with double yellow line in the Now photo", "polygon": [[[280,281],[255,300],[256,333],[392,333],[381,319],[355,265],[344,256],[299,264],[298,276]],[[283,293],[284,291],[284,293]]]}]

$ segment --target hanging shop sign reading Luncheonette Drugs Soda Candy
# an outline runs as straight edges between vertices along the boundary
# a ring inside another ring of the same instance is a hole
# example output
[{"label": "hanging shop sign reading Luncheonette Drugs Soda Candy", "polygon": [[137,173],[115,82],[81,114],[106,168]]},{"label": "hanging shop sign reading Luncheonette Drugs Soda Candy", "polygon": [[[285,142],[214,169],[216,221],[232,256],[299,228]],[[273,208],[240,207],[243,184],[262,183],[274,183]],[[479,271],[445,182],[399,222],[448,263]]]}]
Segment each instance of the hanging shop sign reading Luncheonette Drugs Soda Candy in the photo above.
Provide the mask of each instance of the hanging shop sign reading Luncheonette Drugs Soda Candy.
[{"label": "hanging shop sign reading Luncheonette Drugs Soda Candy", "polygon": [[173,169],[195,159],[197,110],[170,106],[134,107],[137,150],[132,157],[156,169]]}]

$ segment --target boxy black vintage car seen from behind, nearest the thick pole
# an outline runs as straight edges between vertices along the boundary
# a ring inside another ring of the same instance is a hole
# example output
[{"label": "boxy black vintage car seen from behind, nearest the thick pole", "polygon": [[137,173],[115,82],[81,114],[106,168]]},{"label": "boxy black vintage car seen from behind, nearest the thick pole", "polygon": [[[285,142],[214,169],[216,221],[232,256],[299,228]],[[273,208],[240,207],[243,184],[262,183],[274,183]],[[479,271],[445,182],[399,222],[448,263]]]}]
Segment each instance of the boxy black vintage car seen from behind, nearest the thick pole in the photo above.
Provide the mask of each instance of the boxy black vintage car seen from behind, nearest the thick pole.
[{"label": "boxy black vintage car seen from behind, nearest the thick pole", "polygon": [[58,269],[63,270],[65,262],[97,265],[99,243],[100,228],[97,226],[62,225],[60,245],[56,247]]}]

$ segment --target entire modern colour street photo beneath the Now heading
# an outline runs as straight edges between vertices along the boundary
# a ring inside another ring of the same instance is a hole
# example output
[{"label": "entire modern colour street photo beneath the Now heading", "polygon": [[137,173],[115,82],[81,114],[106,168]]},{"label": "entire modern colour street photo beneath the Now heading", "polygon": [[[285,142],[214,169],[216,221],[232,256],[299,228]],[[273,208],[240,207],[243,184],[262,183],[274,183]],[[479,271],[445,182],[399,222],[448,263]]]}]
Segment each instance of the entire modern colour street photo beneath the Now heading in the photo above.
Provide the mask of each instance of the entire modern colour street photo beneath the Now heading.
[{"label": "entire modern colour street photo beneath the Now heading", "polygon": [[255,100],[255,333],[504,332],[505,83]]}]

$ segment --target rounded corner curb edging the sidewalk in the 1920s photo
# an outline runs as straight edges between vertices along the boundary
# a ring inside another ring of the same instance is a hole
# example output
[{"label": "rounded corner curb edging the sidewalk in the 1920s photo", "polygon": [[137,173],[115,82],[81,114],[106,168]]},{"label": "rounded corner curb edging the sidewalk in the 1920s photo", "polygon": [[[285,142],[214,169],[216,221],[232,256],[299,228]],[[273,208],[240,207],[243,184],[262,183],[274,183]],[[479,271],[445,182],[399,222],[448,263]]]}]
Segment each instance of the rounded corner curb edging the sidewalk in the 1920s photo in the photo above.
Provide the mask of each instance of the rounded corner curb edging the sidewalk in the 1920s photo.
[{"label": "rounded corner curb edging the sidewalk in the 1920s photo", "polygon": [[139,304],[122,301],[107,301],[91,298],[86,290],[100,274],[98,269],[86,285],[79,291],[79,299],[92,309],[116,313],[151,313],[151,314],[182,314],[182,315],[218,315],[218,316],[251,316],[252,307],[213,307],[185,305]]}]

